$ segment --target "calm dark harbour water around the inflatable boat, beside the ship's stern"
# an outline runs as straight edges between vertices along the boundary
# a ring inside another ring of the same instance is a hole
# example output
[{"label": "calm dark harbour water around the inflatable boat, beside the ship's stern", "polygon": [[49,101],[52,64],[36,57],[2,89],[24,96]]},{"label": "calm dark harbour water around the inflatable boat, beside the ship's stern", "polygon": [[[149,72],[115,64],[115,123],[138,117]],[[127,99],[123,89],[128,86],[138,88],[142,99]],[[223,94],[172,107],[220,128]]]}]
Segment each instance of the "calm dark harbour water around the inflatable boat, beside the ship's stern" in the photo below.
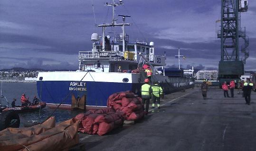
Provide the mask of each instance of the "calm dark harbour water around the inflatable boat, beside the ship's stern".
[{"label": "calm dark harbour water around the inflatable boat, beside the ship's stern", "polygon": [[[1,87],[1,83],[0,83]],[[2,83],[2,95],[6,97],[6,99],[11,103],[13,98],[16,98],[16,105],[21,105],[20,97],[25,93],[26,97],[29,97],[29,101],[33,101],[33,98],[37,94],[37,84],[36,83]],[[39,98],[39,97],[38,97]],[[6,105],[6,101],[1,99],[3,105]],[[20,127],[23,126],[24,123],[31,120],[38,120],[40,115],[40,121],[43,121],[46,117],[48,117],[53,112],[53,109],[45,108],[40,112],[27,112],[20,113]],[[77,114],[82,113],[84,111],[67,111],[57,109],[53,116],[56,117],[56,122],[61,122],[72,117],[75,117]]]}]

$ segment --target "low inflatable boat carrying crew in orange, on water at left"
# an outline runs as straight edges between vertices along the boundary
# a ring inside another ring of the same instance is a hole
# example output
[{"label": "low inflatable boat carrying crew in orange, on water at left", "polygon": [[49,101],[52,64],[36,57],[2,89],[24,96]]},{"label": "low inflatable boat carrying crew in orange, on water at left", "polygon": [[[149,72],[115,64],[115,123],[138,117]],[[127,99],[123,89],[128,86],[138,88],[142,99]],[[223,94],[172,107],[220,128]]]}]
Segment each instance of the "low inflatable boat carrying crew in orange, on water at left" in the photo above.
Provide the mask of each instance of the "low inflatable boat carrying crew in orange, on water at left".
[{"label": "low inflatable boat carrying crew in orange, on water at left", "polygon": [[44,109],[46,107],[45,102],[40,102],[38,105],[28,105],[28,106],[18,106],[15,108],[5,108],[2,111],[8,111],[8,110],[14,110],[16,112],[22,113],[22,112],[32,112],[41,109]]}]

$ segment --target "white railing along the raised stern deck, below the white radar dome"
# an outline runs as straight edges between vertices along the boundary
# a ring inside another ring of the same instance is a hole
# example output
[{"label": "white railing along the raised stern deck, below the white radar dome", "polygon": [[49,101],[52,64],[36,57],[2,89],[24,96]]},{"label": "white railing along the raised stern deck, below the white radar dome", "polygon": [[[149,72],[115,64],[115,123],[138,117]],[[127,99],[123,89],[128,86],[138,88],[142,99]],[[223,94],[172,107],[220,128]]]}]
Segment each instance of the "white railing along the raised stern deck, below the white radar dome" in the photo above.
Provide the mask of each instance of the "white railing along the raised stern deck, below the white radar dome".
[{"label": "white railing along the raised stern deck, below the white radar dome", "polygon": [[123,59],[120,51],[79,51],[79,59]]}]

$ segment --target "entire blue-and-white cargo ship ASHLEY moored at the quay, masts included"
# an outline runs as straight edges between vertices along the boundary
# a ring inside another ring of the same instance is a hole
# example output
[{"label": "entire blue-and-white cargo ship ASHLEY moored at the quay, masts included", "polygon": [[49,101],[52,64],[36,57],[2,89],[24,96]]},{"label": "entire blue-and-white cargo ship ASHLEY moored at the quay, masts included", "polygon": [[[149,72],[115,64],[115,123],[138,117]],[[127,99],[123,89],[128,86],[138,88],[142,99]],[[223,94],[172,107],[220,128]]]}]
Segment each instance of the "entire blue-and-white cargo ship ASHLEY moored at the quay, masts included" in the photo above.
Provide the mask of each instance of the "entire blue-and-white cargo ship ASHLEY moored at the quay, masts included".
[{"label": "entire blue-and-white cargo ship ASHLEY moored at the quay, masts included", "polygon": [[[142,66],[152,69],[150,83],[158,82],[165,94],[194,86],[194,79],[185,76],[165,75],[166,55],[155,55],[154,42],[129,42],[125,28],[132,25],[125,20],[130,16],[118,15],[122,23],[117,24],[115,7],[123,5],[106,3],[113,8],[112,23],[96,25],[102,28],[102,35],[91,36],[92,50],[79,51],[79,68],[76,71],[39,72],[37,91],[41,101],[55,108],[90,109],[107,106],[108,97],[115,92],[132,91],[141,94],[141,85],[147,78]],[[106,31],[122,29],[122,34],[106,35]],[[161,69],[161,70],[160,70]]]}]

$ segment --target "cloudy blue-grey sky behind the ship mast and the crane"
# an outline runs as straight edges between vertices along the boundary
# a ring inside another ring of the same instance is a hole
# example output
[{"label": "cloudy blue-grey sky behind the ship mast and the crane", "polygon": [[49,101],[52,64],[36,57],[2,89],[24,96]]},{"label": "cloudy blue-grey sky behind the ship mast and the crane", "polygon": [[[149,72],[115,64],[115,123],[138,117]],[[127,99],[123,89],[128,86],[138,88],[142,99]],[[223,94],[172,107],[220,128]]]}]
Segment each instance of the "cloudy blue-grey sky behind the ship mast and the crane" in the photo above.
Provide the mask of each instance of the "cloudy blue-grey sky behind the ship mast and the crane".
[{"label": "cloudy blue-grey sky behind the ship mast and the crane", "polygon": [[[157,54],[166,51],[168,66],[178,66],[174,55],[180,47],[187,58],[182,67],[217,69],[220,1],[123,0],[116,15],[132,16],[126,20],[133,23],[127,28],[130,42],[154,42]],[[91,50],[91,34],[101,33],[95,22],[111,20],[105,2],[111,0],[0,0],[0,69],[77,69],[78,51]],[[256,0],[249,1],[241,22],[250,37],[245,69],[256,71]]]}]

